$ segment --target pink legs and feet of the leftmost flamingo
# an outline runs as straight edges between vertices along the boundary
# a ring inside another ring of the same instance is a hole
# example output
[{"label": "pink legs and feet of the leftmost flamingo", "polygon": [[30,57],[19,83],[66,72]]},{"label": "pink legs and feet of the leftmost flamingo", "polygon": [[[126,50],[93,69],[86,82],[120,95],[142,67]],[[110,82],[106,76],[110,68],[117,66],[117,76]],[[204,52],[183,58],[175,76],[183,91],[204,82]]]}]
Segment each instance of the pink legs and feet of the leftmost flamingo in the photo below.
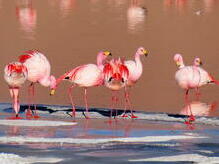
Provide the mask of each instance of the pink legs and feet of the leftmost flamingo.
[{"label": "pink legs and feet of the leftmost flamingo", "polygon": [[13,98],[13,108],[15,110],[15,117],[11,117],[10,119],[22,119],[18,116],[19,110],[20,110],[20,104],[19,104],[19,88],[10,88],[10,95]]}]

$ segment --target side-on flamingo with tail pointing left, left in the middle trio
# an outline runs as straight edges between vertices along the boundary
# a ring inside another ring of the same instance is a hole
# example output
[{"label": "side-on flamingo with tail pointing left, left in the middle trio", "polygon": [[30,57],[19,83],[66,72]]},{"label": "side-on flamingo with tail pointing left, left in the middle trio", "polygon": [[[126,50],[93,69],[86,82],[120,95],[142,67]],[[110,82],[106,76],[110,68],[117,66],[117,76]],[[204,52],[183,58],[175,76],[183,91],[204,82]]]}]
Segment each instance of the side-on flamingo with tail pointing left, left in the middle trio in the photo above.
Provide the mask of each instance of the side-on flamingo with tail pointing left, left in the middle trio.
[{"label": "side-on flamingo with tail pointing left, left in the middle trio", "polygon": [[57,86],[62,80],[69,80],[71,87],[68,89],[68,95],[72,104],[72,116],[75,117],[75,104],[72,99],[72,89],[77,85],[84,88],[84,101],[86,107],[85,117],[88,119],[88,103],[87,103],[87,88],[103,85],[103,68],[104,61],[111,53],[109,51],[101,51],[97,55],[97,64],[86,64],[78,66],[71,71],[66,72],[56,80],[56,85],[51,89],[50,95],[55,94]]}]

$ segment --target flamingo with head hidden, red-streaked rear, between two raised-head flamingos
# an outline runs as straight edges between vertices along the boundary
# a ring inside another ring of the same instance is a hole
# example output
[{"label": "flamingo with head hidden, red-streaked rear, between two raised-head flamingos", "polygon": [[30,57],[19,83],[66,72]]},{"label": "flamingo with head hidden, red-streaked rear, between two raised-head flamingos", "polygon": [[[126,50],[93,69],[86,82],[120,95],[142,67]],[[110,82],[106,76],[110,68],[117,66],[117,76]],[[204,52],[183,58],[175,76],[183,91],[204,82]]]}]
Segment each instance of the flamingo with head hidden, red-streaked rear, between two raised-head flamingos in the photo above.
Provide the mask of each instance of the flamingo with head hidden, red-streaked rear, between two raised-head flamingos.
[{"label": "flamingo with head hidden, red-streaked rear, between two raised-head flamingos", "polygon": [[110,62],[105,64],[103,74],[105,86],[112,90],[112,108],[110,112],[111,123],[112,109],[114,108],[114,104],[118,101],[118,97],[114,95],[114,93],[115,91],[118,91],[126,86],[129,70],[124,65],[124,61],[122,61],[120,58],[112,59]]}]

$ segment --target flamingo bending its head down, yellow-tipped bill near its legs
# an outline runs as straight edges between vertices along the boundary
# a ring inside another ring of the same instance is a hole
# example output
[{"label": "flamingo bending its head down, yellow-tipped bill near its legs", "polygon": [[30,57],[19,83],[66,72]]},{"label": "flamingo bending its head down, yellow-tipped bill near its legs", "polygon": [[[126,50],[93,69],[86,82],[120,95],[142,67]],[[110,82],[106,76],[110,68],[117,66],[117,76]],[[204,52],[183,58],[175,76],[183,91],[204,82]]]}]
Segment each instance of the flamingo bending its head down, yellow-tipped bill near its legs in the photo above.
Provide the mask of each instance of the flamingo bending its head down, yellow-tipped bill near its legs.
[{"label": "flamingo bending its head down, yellow-tipped bill near its legs", "polygon": [[[44,87],[53,88],[56,84],[56,79],[53,75],[50,75],[51,66],[46,56],[38,50],[25,51],[24,55],[19,56],[19,61],[27,67],[28,77],[31,82],[29,85],[29,92],[32,92],[32,98],[34,97],[35,90],[34,85],[40,83]],[[30,93],[28,93],[30,94]],[[35,107],[35,118],[38,118]],[[30,104],[28,112],[30,112]]]}]

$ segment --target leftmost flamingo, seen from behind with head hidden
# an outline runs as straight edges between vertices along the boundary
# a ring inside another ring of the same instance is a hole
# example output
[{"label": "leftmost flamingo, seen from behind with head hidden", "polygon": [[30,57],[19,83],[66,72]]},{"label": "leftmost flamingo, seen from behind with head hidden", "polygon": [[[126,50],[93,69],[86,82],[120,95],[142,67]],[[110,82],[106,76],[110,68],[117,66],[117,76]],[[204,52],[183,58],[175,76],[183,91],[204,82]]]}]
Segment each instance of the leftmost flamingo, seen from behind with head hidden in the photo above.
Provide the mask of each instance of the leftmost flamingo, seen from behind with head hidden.
[{"label": "leftmost flamingo, seen from behind with head hidden", "polygon": [[27,68],[20,62],[11,62],[5,66],[4,69],[4,78],[8,83],[10,95],[13,98],[13,108],[15,111],[15,118],[12,119],[20,119],[18,117],[18,113],[20,111],[19,104],[19,89],[27,80]]}]

